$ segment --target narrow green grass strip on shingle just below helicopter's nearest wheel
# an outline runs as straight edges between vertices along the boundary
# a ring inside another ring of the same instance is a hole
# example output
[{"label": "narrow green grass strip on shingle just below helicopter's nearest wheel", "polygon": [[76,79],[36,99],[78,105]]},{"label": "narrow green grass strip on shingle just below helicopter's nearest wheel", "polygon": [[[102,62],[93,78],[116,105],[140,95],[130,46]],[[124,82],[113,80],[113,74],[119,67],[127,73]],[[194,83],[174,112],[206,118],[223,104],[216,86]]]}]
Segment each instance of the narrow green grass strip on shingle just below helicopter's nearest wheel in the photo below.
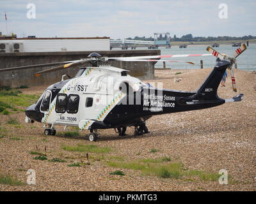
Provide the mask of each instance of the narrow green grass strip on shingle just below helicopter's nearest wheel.
[{"label": "narrow green grass strip on shingle just below helicopter's nearest wheel", "polygon": [[109,153],[111,151],[109,147],[98,147],[97,145],[83,145],[81,143],[73,147],[64,145],[62,149],[68,152],[91,152],[91,153]]}]

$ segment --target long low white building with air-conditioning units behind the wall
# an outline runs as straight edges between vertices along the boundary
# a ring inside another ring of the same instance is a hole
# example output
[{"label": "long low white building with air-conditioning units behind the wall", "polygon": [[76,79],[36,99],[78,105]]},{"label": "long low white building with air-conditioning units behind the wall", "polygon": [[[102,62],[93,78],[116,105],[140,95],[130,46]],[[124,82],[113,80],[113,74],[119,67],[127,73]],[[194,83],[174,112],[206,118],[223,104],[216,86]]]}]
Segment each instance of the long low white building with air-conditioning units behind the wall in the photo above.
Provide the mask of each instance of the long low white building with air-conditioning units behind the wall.
[{"label": "long low white building with air-conditioning units behind the wall", "polygon": [[0,38],[0,53],[110,50],[108,37],[96,38]]}]

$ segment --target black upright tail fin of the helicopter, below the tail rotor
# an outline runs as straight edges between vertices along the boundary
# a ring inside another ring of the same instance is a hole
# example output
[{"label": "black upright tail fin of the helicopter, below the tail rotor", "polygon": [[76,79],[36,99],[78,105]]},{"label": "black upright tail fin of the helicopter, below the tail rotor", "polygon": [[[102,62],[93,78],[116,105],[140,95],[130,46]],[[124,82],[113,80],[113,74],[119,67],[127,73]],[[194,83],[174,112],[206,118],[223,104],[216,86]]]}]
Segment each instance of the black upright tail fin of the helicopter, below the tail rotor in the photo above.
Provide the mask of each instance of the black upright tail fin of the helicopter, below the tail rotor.
[{"label": "black upright tail fin of the helicopter, below the tail rotor", "polygon": [[217,90],[226,69],[230,66],[230,61],[218,60],[211,71],[209,76],[205,79],[204,83],[196,91],[195,98],[205,100],[219,99]]}]

